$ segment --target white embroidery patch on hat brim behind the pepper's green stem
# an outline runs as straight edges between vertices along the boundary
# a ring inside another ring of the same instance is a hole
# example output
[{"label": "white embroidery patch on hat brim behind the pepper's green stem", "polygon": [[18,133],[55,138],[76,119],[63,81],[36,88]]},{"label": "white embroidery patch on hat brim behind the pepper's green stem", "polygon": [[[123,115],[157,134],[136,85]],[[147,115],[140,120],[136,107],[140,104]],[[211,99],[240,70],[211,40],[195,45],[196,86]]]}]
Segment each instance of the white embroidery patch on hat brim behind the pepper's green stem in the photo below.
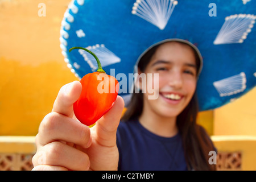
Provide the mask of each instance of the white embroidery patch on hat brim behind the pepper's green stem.
[{"label": "white embroidery patch on hat brim behind the pepper's green stem", "polygon": [[[119,63],[121,61],[121,59],[117,57],[113,52],[109,51],[109,49],[106,48],[104,44],[96,44],[96,46],[89,46],[86,47],[86,49],[89,49],[98,57],[98,59],[101,61],[102,67]],[[82,57],[84,57],[84,60],[89,64],[92,71],[96,71],[98,64],[95,58],[90,53],[82,49],[79,49],[79,53],[82,55]]]}]

